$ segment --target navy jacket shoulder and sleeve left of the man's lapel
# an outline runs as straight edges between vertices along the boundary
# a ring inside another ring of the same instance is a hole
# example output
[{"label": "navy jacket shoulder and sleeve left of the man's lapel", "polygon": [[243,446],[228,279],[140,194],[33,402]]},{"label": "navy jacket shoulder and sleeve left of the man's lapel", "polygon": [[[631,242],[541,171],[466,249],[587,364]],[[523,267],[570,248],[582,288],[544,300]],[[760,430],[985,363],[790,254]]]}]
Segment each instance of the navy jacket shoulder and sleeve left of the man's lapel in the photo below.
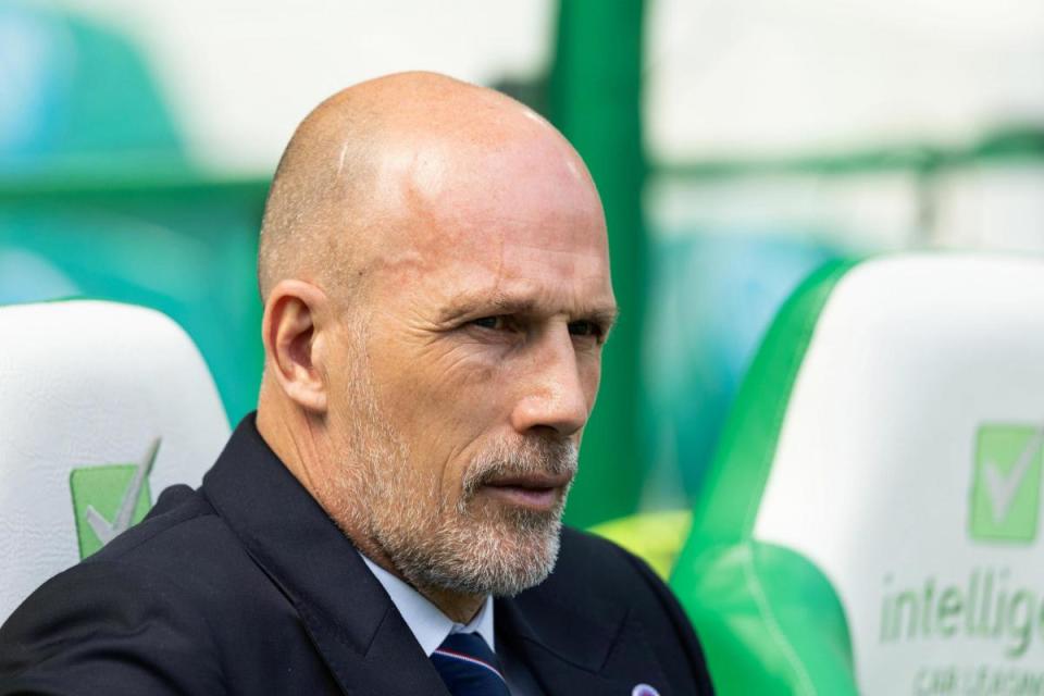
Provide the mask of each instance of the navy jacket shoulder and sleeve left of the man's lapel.
[{"label": "navy jacket shoulder and sleeve left of the man's lapel", "polygon": [[206,496],[176,486],[0,626],[0,694],[9,678],[12,693],[224,693],[232,676],[260,693],[285,676],[276,656],[322,683],[309,646],[293,604]]}]

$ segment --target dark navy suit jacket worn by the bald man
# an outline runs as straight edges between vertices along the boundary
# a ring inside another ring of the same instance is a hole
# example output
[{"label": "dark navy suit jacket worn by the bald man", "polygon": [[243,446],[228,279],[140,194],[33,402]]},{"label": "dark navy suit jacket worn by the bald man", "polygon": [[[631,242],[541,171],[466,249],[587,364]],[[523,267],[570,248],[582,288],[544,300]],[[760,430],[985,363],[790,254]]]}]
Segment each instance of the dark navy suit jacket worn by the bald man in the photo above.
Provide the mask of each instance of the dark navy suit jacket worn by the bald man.
[{"label": "dark navy suit jacket worn by the bald man", "polygon": [[[10,559],[8,559],[10,561]],[[543,584],[496,601],[498,657],[547,694],[709,694],[649,569],[564,531]],[[351,543],[246,419],[198,490],[35,592],[0,629],[0,694],[445,695]]]}]

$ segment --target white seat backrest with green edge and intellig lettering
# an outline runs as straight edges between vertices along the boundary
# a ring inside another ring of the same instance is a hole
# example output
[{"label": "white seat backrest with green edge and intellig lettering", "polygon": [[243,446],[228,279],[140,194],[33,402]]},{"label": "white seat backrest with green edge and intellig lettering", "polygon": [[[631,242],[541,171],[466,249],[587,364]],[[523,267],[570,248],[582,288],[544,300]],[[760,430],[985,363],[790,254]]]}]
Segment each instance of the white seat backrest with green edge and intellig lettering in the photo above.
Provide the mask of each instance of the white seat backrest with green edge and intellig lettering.
[{"label": "white seat backrest with green edge and intellig lettering", "polygon": [[991,688],[1042,684],[1042,467],[1044,261],[835,269],[770,331],[681,564],[745,538],[807,559],[860,694],[1031,693]]}]

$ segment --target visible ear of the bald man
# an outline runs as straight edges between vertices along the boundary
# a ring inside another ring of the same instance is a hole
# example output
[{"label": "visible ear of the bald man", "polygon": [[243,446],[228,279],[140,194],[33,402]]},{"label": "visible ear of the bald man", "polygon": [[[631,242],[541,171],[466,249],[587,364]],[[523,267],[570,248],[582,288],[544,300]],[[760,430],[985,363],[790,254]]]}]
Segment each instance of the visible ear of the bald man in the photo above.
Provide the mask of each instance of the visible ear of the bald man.
[{"label": "visible ear of the bald man", "polygon": [[269,293],[261,321],[266,370],[291,401],[326,411],[324,351],[330,300],[303,281],[281,281]]}]

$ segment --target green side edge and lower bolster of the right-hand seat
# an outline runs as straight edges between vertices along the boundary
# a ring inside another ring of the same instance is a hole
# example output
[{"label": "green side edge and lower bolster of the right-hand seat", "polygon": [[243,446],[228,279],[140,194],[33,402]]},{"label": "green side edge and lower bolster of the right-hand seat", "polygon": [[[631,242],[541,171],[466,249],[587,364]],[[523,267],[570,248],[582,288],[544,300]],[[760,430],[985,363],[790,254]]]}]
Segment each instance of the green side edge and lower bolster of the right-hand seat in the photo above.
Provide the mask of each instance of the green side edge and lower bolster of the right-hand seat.
[{"label": "green side edge and lower bolster of the right-hand seat", "polygon": [[741,387],[671,579],[726,696],[856,693],[844,609],[830,582],[807,559],[751,538],[805,353],[854,265],[824,265],[780,310]]}]

